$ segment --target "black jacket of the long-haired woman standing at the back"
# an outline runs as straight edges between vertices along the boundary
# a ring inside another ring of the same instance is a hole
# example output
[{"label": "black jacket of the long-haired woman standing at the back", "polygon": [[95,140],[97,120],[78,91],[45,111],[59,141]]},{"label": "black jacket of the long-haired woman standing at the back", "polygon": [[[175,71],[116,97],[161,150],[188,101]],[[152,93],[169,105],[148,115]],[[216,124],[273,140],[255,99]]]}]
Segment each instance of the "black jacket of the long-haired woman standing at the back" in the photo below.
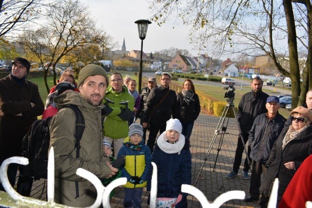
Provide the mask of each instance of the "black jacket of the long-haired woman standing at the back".
[{"label": "black jacket of the long-haired woman standing at the back", "polygon": [[181,122],[195,121],[200,113],[200,104],[197,94],[193,96],[194,101],[190,101],[189,104],[183,99],[182,93],[178,93],[176,96],[177,104],[177,119]]}]

